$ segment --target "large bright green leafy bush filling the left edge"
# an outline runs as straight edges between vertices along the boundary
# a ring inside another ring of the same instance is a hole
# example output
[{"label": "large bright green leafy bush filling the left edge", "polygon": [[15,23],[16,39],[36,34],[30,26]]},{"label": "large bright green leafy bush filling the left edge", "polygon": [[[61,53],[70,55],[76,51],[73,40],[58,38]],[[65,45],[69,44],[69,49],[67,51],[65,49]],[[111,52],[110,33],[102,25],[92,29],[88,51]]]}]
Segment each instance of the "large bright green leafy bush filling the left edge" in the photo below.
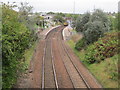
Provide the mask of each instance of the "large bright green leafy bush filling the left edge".
[{"label": "large bright green leafy bush filling the left edge", "polygon": [[32,31],[19,22],[18,12],[9,5],[2,5],[2,75],[3,88],[11,88],[18,72],[25,68],[23,53],[35,40]]}]

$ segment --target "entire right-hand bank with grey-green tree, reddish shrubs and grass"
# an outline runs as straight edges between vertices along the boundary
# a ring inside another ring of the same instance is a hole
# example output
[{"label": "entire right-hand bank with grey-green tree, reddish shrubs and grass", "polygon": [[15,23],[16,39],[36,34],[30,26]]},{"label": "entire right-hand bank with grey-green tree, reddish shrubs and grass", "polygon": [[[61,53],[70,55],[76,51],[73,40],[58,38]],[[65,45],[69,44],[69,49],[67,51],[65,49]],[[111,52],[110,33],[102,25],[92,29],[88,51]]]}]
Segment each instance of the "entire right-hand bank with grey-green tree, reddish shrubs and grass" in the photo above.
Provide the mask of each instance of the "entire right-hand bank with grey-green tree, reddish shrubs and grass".
[{"label": "entire right-hand bank with grey-green tree, reddish shrubs and grass", "polygon": [[[118,18],[118,14],[116,14]],[[104,88],[118,88],[118,35],[120,32],[110,17],[101,10],[85,14],[76,22],[76,31],[83,34],[77,43],[68,44]],[[111,23],[112,22],[112,23]],[[117,23],[118,24],[118,23]],[[115,30],[113,30],[113,28]]]}]

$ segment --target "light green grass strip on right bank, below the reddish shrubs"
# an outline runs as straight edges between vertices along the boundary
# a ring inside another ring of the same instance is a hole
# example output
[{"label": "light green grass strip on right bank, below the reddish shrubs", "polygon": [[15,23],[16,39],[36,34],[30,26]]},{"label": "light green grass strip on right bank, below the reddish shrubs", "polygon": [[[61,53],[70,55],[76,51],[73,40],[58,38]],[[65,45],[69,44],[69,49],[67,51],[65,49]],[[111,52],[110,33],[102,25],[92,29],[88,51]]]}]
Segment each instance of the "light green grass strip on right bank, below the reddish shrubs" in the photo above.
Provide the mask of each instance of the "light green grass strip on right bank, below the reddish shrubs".
[{"label": "light green grass strip on right bank, below the reddish shrubs", "polygon": [[103,88],[118,88],[118,56],[106,58],[100,63],[88,64],[85,62],[86,50],[77,51],[73,40],[68,41],[69,46],[73,49],[74,53],[79,57],[80,61],[88,68],[88,70],[96,77],[101,83]]}]

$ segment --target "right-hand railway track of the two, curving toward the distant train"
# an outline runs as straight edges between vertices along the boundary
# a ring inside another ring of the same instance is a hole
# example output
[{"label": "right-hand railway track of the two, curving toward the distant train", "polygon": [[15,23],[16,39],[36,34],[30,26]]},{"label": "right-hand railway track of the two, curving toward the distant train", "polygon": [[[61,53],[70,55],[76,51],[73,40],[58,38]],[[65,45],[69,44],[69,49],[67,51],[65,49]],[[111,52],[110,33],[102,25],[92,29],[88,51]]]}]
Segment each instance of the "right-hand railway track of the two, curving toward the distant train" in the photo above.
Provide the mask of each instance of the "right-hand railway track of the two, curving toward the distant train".
[{"label": "right-hand railway track of the two, curving toward the distant train", "polygon": [[56,39],[56,44],[58,46],[57,48],[59,48],[57,50],[59,52],[59,57],[62,58],[61,61],[65,67],[65,70],[66,70],[69,78],[70,78],[70,82],[71,82],[73,88],[88,88],[88,89],[90,89],[90,86],[88,85],[86,80],[83,78],[82,74],[78,71],[75,64],[72,62],[72,60],[71,60],[72,58],[69,55],[68,51],[66,50],[66,48],[63,44],[63,37],[62,37],[61,32],[62,32],[62,30],[58,31],[58,34],[54,36],[54,39],[52,41],[55,41],[55,39]]}]

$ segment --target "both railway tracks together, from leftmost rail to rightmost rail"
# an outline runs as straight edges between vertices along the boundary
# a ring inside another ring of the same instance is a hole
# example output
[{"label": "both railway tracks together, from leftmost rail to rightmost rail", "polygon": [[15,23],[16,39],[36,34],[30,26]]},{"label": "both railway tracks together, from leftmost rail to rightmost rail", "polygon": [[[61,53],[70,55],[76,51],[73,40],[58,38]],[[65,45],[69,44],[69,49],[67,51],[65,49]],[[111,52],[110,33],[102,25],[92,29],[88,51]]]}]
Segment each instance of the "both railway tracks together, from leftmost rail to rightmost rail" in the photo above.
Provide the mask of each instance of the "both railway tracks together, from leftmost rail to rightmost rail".
[{"label": "both railway tracks together, from leftmost rail to rightmost rail", "polygon": [[[63,42],[63,28],[55,28],[46,36],[42,58],[41,88],[56,88],[58,90],[59,88],[69,88],[70,86],[71,88],[86,88],[90,90],[92,87],[73,62],[74,60]],[[61,68],[63,70],[60,70]]]}]

